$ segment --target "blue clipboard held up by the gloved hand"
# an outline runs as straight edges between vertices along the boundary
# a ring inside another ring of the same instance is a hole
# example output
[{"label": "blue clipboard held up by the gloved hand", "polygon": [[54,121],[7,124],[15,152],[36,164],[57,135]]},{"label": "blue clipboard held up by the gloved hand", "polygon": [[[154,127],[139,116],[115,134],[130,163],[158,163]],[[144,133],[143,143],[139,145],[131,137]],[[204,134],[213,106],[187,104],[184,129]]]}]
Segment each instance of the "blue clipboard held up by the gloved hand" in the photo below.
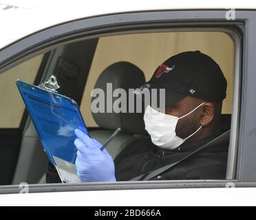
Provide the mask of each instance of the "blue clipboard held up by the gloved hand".
[{"label": "blue clipboard held up by the gloved hand", "polygon": [[76,176],[74,130],[87,133],[78,105],[71,98],[16,80],[25,106],[39,133],[50,162],[56,166],[63,183],[80,181]]}]

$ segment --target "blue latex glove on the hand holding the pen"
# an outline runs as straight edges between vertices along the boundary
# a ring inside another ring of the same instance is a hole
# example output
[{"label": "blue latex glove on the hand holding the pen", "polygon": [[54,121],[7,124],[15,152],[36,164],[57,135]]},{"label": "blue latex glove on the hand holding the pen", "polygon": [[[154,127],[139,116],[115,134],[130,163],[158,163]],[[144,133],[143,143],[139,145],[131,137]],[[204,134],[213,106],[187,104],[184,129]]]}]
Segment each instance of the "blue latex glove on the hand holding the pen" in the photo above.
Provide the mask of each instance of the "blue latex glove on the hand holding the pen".
[{"label": "blue latex glove on the hand holding the pen", "polygon": [[116,181],[113,159],[106,149],[100,151],[102,144],[79,129],[75,134],[76,169],[81,181]]}]

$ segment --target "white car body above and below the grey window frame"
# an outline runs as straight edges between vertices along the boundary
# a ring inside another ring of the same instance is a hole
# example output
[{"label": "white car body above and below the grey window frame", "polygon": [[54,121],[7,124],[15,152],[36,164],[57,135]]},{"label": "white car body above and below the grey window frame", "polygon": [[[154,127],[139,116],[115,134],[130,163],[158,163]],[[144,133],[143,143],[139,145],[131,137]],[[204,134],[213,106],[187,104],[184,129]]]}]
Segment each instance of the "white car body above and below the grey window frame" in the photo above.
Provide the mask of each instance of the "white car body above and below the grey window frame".
[{"label": "white car body above and below the grey window frame", "polygon": [[[250,8],[253,1],[65,1],[0,0],[0,53],[15,41],[45,28],[86,17],[119,12],[179,10],[200,8]],[[28,191],[29,192],[29,191]],[[255,188],[106,190],[84,192],[0,195],[5,205],[82,205],[82,206],[175,206],[244,205],[255,203]],[[122,198],[122,199],[121,199]]]}]

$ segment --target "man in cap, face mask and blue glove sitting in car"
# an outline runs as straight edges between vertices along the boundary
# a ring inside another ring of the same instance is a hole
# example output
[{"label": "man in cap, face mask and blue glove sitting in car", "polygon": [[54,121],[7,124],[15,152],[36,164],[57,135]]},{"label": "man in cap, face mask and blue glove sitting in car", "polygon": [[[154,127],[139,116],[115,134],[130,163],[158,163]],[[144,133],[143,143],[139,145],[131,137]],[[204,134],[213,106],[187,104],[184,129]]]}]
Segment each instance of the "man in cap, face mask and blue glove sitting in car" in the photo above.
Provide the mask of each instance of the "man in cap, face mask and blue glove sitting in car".
[{"label": "man in cap, face mask and blue glove sitting in car", "polygon": [[[183,52],[160,65],[137,91],[147,89],[165,89],[165,109],[147,106],[145,129],[151,138],[132,142],[115,161],[106,149],[100,151],[97,140],[75,130],[81,181],[225,179],[228,138],[202,148],[230,129],[222,116],[226,79],[219,65],[199,51]],[[169,164],[175,166],[150,177]]]}]

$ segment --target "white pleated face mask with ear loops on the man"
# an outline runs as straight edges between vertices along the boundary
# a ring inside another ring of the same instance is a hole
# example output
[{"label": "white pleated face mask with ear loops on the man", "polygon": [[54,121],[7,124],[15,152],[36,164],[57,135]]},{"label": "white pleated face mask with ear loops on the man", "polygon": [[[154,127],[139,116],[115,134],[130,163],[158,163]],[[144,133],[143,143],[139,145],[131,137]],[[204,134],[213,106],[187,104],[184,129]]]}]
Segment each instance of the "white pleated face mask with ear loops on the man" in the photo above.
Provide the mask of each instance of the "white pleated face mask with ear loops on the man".
[{"label": "white pleated face mask with ear loops on the man", "polygon": [[[202,104],[204,103],[205,102],[202,102]],[[202,106],[202,104],[198,105],[198,107],[180,118],[186,117],[200,106]],[[182,139],[175,133],[176,125],[180,118],[173,115],[164,114],[162,112],[156,111],[150,106],[147,106],[144,114],[145,129],[151,136],[151,141],[153,144],[160,146],[161,148],[174,149],[180,146],[180,144],[182,144],[186,139],[193,136],[202,128],[201,125],[200,128],[189,135],[189,137]]]}]

